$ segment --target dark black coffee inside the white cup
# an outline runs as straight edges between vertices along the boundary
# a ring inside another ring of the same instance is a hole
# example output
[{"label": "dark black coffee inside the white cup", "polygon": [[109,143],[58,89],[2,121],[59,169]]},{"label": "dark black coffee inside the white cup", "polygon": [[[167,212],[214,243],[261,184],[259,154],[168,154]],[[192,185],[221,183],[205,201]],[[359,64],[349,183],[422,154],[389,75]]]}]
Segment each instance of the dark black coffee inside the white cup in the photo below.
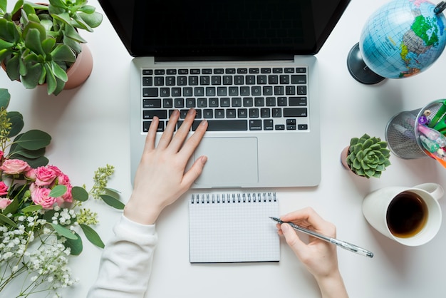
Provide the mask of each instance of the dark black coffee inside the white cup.
[{"label": "dark black coffee inside the white cup", "polygon": [[387,225],[396,237],[416,235],[427,221],[427,205],[413,192],[401,192],[393,198],[387,210]]}]

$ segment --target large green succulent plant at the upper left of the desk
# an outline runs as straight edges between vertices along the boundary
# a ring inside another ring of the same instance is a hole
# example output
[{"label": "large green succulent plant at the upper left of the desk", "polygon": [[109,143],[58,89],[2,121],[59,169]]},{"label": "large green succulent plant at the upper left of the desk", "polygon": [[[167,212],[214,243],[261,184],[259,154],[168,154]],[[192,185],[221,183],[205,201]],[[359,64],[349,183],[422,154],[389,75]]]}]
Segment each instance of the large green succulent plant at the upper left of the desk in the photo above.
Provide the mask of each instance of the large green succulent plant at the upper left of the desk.
[{"label": "large green succulent plant at the upper left of the desk", "polygon": [[[78,68],[73,63],[88,51],[78,29],[91,32],[102,19],[87,0],[49,0],[49,4],[19,0],[11,12],[6,12],[6,0],[0,0],[2,67],[26,88],[46,83],[48,94],[57,95],[66,87],[68,68]],[[84,60],[91,65],[83,81],[93,67],[91,59]]]}]

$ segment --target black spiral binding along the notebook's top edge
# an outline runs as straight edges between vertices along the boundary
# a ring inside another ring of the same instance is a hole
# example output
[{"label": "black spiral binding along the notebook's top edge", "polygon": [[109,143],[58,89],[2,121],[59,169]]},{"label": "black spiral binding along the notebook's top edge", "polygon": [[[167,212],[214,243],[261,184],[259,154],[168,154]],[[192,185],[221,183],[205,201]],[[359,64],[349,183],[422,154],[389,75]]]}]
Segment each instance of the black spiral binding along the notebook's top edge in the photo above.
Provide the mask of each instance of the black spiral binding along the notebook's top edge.
[{"label": "black spiral binding along the notebook's top edge", "polygon": [[276,192],[194,193],[191,197],[192,204],[277,202]]}]

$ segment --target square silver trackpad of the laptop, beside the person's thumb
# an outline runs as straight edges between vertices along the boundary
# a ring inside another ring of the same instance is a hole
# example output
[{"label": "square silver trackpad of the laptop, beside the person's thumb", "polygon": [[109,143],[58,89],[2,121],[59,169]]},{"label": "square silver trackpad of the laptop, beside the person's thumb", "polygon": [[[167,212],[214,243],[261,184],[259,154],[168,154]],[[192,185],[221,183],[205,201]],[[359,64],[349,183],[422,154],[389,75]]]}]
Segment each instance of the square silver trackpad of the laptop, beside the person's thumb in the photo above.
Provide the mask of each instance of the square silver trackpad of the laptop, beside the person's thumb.
[{"label": "square silver trackpad of the laptop, beside the person's thumb", "polygon": [[257,138],[203,138],[194,160],[202,155],[207,163],[196,185],[239,187],[259,182]]}]

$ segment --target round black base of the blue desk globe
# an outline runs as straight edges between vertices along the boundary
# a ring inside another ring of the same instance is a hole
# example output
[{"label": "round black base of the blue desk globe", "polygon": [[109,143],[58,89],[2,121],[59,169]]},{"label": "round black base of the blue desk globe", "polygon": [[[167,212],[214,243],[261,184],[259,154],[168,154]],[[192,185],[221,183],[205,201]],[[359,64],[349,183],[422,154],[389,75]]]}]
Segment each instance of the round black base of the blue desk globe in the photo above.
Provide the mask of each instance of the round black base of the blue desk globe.
[{"label": "round black base of the blue desk globe", "polygon": [[367,65],[365,65],[363,56],[361,56],[361,51],[359,50],[359,43],[356,43],[356,45],[351,48],[350,52],[348,52],[347,68],[351,76],[353,76],[356,81],[363,84],[373,85],[385,79],[374,73]]}]

